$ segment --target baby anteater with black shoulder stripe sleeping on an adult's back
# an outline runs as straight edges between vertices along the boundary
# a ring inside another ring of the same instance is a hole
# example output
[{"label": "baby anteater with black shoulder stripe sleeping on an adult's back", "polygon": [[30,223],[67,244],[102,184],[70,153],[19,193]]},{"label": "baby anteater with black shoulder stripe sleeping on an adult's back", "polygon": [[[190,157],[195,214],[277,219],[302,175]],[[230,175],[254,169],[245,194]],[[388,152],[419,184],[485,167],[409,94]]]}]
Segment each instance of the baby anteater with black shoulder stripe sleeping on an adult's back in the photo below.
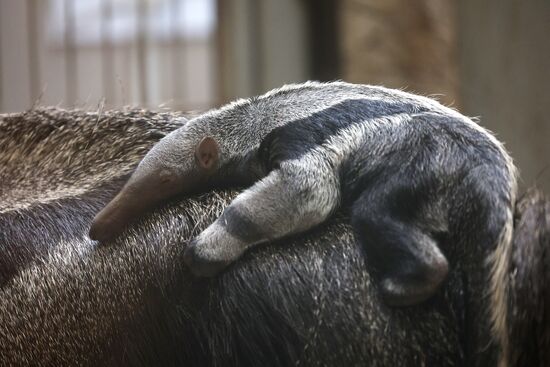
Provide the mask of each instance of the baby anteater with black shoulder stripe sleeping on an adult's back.
[{"label": "baby anteater with black shoulder stripe sleeping on an adult's back", "polygon": [[[195,157],[208,137],[218,161],[204,173]],[[235,182],[252,186],[188,247],[195,274],[217,274],[339,206],[351,207],[392,305],[432,296],[464,233],[488,252],[509,247],[516,177],[501,144],[429,98],[344,82],[287,85],[192,119],[145,156],[91,234],[109,238],[143,203]]]}]

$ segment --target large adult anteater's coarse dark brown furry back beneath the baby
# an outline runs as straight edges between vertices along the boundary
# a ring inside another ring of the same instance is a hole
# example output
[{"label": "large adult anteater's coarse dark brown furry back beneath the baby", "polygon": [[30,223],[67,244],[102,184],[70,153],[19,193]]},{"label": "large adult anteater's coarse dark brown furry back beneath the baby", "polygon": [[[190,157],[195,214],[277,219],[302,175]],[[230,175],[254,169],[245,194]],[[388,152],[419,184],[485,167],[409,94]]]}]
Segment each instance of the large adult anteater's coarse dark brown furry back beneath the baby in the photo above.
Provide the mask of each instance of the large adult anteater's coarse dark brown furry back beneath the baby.
[{"label": "large adult anteater's coarse dark brown furry back beneath the baby", "polygon": [[[435,297],[408,308],[381,301],[342,214],[253,249],[220,277],[192,277],[185,246],[235,192],[174,201],[116,246],[97,247],[86,235],[94,213],[183,121],[142,110],[0,117],[0,261],[11,269],[0,285],[0,365],[496,364],[489,281],[477,260],[486,251],[476,243],[464,242]],[[505,362],[546,366],[548,201],[529,195],[516,222],[511,265],[498,278],[511,291]]]}]

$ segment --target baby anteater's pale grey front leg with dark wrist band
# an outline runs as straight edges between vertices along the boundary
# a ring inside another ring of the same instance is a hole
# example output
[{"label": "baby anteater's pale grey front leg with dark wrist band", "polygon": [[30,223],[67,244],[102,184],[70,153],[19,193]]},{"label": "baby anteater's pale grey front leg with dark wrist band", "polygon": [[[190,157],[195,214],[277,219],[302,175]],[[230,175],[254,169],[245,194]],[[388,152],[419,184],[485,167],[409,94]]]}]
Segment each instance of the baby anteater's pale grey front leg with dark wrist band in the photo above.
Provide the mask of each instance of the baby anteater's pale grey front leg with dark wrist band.
[{"label": "baby anteater's pale grey front leg with dark wrist band", "polygon": [[251,246],[321,223],[339,197],[339,181],[326,162],[282,162],[191,241],[185,262],[194,274],[213,276]]}]

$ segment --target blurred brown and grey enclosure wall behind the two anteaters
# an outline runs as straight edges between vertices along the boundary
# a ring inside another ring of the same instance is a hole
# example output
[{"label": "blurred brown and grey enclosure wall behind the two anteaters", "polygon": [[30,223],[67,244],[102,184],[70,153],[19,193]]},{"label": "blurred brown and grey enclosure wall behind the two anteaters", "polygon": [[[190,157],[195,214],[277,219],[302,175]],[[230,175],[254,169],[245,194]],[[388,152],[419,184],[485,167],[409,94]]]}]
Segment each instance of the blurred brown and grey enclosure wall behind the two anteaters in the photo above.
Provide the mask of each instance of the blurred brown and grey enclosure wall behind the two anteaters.
[{"label": "blurred brown and grey enclosure wall behind the two anteaters", "polygon": [[548,0],[0,0],[0,112],[382,84],[479,117],[550,193],[549,36]]}]

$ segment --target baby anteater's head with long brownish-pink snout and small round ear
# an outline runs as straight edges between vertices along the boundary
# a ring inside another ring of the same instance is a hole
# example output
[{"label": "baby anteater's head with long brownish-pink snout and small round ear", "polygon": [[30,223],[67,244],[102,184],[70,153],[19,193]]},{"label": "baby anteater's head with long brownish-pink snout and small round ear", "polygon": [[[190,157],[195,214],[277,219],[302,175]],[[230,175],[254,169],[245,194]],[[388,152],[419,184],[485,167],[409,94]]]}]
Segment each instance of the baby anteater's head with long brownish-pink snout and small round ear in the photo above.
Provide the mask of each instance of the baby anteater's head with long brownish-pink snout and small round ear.
[{"label": "baby anteater's head with long brownish-pink snout and small round ear", "polygon": [[122,190],[95,216],[91,239],[108,241],[162,202],[204,191],[220,163],[219,145],[193,130],[188,123],[147,153]]}]

